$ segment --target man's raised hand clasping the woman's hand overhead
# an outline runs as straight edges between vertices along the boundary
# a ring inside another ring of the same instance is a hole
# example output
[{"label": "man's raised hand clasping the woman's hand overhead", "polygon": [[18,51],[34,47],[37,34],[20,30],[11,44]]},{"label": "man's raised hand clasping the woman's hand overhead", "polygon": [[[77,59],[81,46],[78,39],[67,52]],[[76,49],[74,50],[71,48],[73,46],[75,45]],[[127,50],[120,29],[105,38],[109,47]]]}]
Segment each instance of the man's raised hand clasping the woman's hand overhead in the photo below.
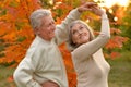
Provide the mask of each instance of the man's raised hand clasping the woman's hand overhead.
[{"label": "man's raised hand clasping the woman's hand overhead", "polygon": [[84,11],[92,11],[92,7],[97,5],[94,2],[86,2],[82,4],[81,7],[78,8],[79,12],[84,12]]}]

